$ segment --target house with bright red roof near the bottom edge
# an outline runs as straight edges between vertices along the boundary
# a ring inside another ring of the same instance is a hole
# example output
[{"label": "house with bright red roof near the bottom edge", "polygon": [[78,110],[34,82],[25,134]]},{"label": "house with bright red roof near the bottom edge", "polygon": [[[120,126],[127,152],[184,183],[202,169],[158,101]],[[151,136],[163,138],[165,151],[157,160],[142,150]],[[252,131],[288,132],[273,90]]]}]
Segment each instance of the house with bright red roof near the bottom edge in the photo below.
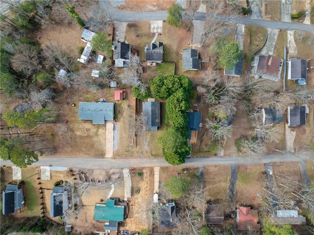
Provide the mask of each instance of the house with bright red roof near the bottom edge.
[{"label": "house with bright red roof near the bottom edge", "polygon": [[258,224],[259,216],[257,210],[251,210],[251,207],[239,207],[236,211],[236,222],[238,230],[260,230]]}]

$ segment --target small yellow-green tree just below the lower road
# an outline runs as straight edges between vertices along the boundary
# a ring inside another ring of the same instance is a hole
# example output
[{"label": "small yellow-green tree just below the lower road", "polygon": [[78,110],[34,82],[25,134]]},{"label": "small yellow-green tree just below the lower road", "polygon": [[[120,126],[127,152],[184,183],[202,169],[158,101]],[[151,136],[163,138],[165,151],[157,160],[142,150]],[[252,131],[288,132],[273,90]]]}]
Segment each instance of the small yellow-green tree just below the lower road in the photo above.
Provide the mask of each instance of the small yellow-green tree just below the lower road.
[{"label": "small yellow-green tree just below the lower road", "polygon": [[190,187],[190,182],[185,179],[172,177],[164,183],[168,192],[175,198],[183,197]]}]

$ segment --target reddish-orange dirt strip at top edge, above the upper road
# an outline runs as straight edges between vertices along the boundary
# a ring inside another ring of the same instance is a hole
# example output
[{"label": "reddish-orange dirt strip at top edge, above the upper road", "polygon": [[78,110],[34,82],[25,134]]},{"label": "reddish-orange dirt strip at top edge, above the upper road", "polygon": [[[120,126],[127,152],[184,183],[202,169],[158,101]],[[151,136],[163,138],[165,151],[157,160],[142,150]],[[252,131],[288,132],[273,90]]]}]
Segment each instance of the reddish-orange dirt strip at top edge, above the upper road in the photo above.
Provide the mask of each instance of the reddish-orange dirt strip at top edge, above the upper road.
[{"label": "reddish-orange dirt strip at top edge, above the upper road", "polygon": [[116,6],[123,11],[164,11],[175,0],[125,0],[124,5]]}]

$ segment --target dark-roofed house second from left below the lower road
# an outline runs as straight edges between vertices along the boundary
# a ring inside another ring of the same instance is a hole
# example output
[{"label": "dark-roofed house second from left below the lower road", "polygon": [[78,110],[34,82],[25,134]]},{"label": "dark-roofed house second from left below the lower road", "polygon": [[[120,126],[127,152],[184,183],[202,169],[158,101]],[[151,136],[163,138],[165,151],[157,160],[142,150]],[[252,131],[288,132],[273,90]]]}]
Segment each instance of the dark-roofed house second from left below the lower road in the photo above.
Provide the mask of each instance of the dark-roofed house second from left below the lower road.
[{"label": "dark-roofed house second from left below the lower road", "polygon": [[68,209],[68,193],[64,187],[53,187],[50,194],[50,216],[61,216]]}]

